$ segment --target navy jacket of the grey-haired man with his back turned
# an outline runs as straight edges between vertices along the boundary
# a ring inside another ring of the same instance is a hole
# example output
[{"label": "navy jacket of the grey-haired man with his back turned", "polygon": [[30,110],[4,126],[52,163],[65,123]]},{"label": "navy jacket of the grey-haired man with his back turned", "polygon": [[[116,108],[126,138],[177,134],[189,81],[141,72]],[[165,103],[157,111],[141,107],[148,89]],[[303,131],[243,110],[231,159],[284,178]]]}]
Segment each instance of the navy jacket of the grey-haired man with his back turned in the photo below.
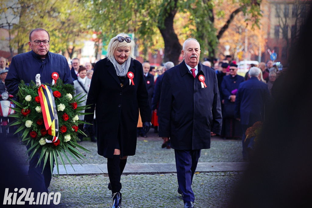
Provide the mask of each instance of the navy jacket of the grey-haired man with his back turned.
[{"label": "navy jacket of the grey-haired man with his back turned", "polygon": [[264,121],[271,102],[268,86],[251,77],[242,82],[235,99],[235,118],[241,118],[242,125],[253,125],[257,121]]}]

